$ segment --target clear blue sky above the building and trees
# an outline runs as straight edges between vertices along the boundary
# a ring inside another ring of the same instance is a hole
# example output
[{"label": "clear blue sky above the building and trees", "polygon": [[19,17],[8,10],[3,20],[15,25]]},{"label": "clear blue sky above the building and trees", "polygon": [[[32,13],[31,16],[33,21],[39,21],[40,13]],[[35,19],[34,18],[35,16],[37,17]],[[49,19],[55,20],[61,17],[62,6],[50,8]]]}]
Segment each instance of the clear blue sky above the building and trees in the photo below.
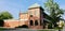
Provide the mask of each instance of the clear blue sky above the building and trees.
[{"label": "clear blue sky above the building and trees", "polygon": [[[47,0],[0,0],[0,12],[8,11],[13,15],[14,19],[18,19],[20,10],[22,12],[26,12],[27,9],[34,3],[38,3],[41,6],[44,6],[43,3],[46,1]],[[61,9],[65,10],[65,0],[54,1],[58,3]],[[63,15],[63,18],[64,17],[65,15]]]}]

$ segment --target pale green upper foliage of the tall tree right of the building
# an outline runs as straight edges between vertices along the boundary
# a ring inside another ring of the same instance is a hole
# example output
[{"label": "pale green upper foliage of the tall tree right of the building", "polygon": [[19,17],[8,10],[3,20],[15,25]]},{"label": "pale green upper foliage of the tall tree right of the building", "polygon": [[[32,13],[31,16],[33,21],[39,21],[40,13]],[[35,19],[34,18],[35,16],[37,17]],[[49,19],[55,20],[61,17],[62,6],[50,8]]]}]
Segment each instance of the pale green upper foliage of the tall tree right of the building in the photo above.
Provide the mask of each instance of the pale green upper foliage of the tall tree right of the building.
[{"label": "pale green upper foliage of the tall tree right of the building", "polygon": [[50,11],[50,16],[57,16],[60,14],[63,14],[63,10],[60,9],[58,4],[56,2],[54,2],[53,0],[48,0],[44,3],[46,9],[48,9],[48,11]]}]

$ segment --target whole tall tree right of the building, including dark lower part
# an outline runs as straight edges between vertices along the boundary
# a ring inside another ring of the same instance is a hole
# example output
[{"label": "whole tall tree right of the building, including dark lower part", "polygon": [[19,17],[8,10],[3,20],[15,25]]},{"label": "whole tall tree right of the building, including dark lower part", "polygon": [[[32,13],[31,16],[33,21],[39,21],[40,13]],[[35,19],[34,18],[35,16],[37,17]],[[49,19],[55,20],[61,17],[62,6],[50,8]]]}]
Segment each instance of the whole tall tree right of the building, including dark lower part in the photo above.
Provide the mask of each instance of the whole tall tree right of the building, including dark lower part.
[{"label": "whole tall tree right of the building, including dark lower part", "polygon": [[63,10],[60,9],[58,4],[53,0],[48,0],[44,3],[44,7],[49,11],[50,17],[52,17],[52,24],[56,26],[56,21],[58,21],[64,14]]}]

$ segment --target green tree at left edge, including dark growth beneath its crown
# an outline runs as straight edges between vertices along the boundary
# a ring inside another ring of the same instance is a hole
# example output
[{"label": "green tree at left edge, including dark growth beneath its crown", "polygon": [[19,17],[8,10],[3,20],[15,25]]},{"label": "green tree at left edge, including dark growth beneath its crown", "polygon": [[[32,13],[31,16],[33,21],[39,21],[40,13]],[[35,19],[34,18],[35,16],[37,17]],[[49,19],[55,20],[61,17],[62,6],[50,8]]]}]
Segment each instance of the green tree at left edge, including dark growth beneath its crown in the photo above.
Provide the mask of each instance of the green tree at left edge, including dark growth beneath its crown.
[{"label": "green tree at left edge, including dark growth beneath its crown", "polygon": [[0,27],[3,27],[4,21],[3,19],[11,19],[13,16],[9,12],[1,12],[0,13]]}]

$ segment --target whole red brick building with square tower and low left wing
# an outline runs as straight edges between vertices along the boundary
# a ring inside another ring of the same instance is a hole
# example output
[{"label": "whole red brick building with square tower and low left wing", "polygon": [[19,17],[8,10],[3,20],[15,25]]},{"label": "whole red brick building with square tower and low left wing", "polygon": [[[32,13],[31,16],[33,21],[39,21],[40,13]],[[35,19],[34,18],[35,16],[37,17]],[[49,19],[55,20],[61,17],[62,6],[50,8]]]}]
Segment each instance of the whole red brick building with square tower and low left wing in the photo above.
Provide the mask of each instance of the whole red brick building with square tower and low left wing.
[{"label": "whole red brick building with square tower and low left wing", "polygon": [[26,13],[20,12],[20,18],[18,19],[5,19],[4,20],[4,27],[6,28],[15,28],[18,26],[26,26],[29,29],[44,29],[48,27],[44,26],[44,10],[37,3],[30,5],[28,7],[28,11]]}]

